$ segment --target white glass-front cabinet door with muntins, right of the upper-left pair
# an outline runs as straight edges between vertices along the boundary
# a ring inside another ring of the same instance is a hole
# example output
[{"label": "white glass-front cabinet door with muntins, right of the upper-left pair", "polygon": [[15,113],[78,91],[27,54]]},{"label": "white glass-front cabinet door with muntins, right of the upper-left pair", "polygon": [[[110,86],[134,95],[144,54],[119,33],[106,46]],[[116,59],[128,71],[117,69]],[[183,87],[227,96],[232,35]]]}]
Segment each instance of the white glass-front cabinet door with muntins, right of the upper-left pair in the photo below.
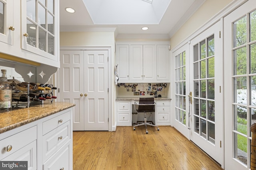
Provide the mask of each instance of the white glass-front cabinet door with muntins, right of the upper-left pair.
[{"label": "white glass-front cabinet door with muntins, right of the upper-left pair", "polygon": [[22,1],[22,49],[56,60],[57,0]]}]

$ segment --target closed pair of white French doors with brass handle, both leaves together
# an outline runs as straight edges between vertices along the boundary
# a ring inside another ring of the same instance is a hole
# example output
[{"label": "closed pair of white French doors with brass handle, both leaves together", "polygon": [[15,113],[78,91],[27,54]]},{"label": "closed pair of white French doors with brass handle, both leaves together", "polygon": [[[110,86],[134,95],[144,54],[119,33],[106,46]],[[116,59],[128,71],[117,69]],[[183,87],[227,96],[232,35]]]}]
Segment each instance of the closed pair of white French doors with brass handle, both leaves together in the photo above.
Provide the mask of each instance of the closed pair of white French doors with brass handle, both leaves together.
[{"label": "closed pair of white French doors with brass handle, both leaves together", "polygon": [[173,53],[174,127],[223,166],[220,21]]}]

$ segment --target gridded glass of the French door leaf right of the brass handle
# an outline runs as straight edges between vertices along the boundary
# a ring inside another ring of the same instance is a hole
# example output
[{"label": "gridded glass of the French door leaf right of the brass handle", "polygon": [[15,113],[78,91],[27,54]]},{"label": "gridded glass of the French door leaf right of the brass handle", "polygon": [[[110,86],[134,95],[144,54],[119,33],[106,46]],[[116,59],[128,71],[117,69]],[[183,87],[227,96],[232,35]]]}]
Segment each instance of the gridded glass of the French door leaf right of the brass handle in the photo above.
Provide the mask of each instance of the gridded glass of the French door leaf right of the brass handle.
[{"label": "gridded glass of the French door leaf right of the brass handle", "polygon": [[[194,132],[215,143],[214,35],[194,45]],[[200,75],[200,76],[198,76]]]}]

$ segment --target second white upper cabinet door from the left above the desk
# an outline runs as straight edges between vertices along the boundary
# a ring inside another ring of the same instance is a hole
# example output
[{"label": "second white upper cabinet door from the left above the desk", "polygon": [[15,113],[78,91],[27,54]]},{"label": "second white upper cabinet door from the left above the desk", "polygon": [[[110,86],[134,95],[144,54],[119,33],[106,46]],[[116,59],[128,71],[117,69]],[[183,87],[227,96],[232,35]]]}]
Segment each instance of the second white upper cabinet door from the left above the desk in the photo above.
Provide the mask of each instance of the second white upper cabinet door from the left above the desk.
[{"label": "second white upper cabinet door from the left above the desk", "polygon": [[130,45],[130,80],[143,80],[143,45]]}]

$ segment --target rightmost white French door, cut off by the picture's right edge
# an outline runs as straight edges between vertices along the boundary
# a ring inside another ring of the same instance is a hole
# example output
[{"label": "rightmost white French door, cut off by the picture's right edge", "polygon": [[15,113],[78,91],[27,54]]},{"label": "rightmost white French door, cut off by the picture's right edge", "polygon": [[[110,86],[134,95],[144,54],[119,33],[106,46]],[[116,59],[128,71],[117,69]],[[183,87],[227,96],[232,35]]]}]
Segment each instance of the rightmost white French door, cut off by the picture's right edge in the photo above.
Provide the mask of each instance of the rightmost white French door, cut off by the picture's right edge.
[{"label": "rightmost white French door, cut off by the picture's right edge", "polygon": [[225,168],[250,168],[256,122],[256,5],[248,0],[224,18]]}]

